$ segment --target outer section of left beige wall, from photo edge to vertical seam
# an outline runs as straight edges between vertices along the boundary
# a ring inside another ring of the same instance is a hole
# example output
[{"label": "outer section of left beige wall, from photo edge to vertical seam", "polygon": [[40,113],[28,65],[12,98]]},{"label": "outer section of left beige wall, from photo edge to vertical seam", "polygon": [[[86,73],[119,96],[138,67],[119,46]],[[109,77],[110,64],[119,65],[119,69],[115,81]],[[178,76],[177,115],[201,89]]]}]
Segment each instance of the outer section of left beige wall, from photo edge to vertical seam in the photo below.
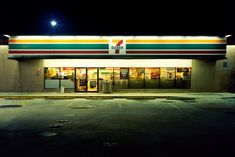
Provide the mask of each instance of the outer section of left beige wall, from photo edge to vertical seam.
[{"label": "outer section of left beige wall, from photo edge to vertical seam", "polygon": [[0,45],[0,91],[20,91],[18,61],[7,57],[8,46]]}]

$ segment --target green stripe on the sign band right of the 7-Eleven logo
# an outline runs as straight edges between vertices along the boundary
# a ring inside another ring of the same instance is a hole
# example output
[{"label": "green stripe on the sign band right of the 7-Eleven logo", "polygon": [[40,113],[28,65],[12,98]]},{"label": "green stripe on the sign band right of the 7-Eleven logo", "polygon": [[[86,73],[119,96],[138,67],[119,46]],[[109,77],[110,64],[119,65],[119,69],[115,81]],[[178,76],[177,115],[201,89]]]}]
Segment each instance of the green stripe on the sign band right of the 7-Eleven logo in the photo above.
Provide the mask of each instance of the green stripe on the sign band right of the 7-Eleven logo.
[{"label": "green stripe on the sign band right of the 7-Eleven logo", "polygon": [[226,49],[225,44],[126,44],[126,49]]}]

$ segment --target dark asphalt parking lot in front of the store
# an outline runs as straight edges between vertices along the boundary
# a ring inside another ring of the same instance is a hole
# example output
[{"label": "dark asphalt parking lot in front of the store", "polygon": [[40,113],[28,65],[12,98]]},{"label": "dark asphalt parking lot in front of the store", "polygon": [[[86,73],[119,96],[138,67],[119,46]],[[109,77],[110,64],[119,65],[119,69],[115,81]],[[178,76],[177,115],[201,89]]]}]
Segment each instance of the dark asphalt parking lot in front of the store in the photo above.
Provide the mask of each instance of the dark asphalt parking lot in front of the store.
[{"label": "dark asphalt parking lot in front of the store", "polygon": [[1,156],[230,156],[235,97],[0,99]]}]

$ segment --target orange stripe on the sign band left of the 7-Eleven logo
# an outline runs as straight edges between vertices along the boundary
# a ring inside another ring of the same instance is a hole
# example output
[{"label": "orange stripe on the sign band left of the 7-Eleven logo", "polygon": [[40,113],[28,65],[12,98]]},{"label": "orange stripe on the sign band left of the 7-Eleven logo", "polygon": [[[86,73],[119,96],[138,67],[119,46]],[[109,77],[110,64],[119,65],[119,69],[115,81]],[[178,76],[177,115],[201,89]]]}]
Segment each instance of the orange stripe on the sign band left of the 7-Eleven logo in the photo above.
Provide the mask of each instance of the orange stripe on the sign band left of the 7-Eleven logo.
[{"label": "orange stripe on the sign band left of the 7-Eleven logo", "polygon": [[68,40],[21,40],[21,39],[10,39],[9,42],[11,43],[108,43],[109,40],[73,40],[73,39],[68,39]]}]

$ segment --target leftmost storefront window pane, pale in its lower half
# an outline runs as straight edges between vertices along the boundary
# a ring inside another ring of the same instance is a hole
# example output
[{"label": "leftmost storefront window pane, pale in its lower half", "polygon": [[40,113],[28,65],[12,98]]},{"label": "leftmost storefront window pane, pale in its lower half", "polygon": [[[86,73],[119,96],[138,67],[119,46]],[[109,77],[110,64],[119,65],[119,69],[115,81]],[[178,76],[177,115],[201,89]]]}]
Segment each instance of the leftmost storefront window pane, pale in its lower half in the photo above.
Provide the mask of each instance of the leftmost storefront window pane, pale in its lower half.
[{"label": "leftmost storefront window pane, pale in its lower half", "polygon": [[44,68],[45,88],[59,88],[59,68]]}]

